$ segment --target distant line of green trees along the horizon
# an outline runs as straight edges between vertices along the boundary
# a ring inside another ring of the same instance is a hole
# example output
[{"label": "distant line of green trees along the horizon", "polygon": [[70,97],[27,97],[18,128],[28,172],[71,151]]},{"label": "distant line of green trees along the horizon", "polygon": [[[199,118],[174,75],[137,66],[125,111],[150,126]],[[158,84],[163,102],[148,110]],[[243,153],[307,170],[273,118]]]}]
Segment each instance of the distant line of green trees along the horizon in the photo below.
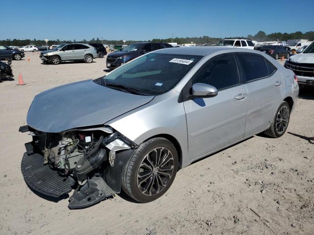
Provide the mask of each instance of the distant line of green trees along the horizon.
[{"label": "distant line of green trees along the horizon", "polygon": [[[231,37],[230,37],[231,38]],[[234,38],[249,38],[251,40],[255,40],[258,42],[265,42],[265,41],[287,41],[288,39],[308,39],[310,41],[314,41],[314,31],[309,31],[306,33],[302,33],[300,31],[294,32],[294,33],[270,33],[266,34],[263,31],[259,31],[255,35],[247,35],[247,37],[234,37]],[[186,38],[166,38],[166,39],[152,39],[148,40],[148,42],[162,42],[162,43],[178,43],[178,44],[183,44],[183,43],[195,43],[195,44],[216,44],[219,40],[222,38],[212,38],[209,36],[203,36],[203,37],[186,37]],[[130,45],[132,43],[136,42],[142,42],[142,41],[126,41],[123,43],[122,40],[101,40],[99,38],[92,38],[91,40],[51,40],[48,42],[48,45],[60,45],[63,43],[103,43],[103,44],[114,44],[114,45]],[[46,42],[44,40],[30,40],[30,39],[6,39],[6,40],[0,40],[0,45],[6,45],[6,46],[17,46],[17,47],[22,47],[26,45],[34,45],[34,46],[45,46]]]}]

